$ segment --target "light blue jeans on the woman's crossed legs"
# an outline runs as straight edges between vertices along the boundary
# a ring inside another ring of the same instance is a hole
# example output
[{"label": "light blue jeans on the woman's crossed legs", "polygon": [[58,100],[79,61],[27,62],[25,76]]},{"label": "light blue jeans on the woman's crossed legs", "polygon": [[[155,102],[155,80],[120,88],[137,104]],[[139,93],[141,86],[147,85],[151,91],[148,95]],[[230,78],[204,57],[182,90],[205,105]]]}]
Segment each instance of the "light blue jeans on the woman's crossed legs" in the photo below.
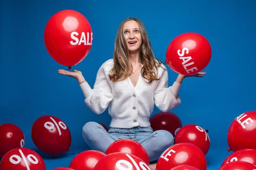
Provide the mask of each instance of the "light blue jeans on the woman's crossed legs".
[{"label": "light blue jeans on the woman's crossed legs", "polygon": [[161,153],[174,144],[173,135],[165,130],[154,131],[149,127],[109,128],[107,132],[97,122],[89,121],[82,129],[82,135],[92,150],[103,153],[118,139],[133,139],[147,151],[149,161],[158,160]]}]

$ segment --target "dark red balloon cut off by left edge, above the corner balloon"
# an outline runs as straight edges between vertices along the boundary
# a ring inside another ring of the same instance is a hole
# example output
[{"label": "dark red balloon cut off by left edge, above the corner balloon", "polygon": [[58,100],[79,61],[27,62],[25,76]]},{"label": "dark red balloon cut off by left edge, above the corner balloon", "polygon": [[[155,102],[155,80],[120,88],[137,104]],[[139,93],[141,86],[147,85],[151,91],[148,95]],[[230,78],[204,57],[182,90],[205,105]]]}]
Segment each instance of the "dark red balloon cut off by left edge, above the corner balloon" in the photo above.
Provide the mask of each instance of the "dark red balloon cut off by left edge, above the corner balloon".
[{"label": "dark red balloon cut off by left edge, above the corner balloon", "polygon": [[23,148],[25,136],[15,124],[5,123],[0,125],[0,158],[14,148]]}]

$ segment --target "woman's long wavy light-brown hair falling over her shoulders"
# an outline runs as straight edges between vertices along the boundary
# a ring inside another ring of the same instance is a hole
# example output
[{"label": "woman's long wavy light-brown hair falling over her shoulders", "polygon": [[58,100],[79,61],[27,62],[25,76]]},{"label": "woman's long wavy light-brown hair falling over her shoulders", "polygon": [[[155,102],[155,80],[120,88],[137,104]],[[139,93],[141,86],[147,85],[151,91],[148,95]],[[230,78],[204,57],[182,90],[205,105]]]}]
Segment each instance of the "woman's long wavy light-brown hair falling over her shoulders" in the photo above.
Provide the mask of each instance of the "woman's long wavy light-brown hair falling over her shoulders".
[{"label": "woman's long wavy light-brown hair falling over her shoulders", "polygon": [[140,63],[143,64],[141,75],[148,83],[159,80],[158,68],[161,67],[162,62],[155,58],[144,24],[135,17],[126,18],[118,27],[113,52],[114,65],[110,70],[109,78],[111,81],[117,82],[126,79],[132,73],[131,63],[129,62],[129,51],[123,33],[124,24],[130,20],[134,20],[138,23],[142,37],[139,58]]}]

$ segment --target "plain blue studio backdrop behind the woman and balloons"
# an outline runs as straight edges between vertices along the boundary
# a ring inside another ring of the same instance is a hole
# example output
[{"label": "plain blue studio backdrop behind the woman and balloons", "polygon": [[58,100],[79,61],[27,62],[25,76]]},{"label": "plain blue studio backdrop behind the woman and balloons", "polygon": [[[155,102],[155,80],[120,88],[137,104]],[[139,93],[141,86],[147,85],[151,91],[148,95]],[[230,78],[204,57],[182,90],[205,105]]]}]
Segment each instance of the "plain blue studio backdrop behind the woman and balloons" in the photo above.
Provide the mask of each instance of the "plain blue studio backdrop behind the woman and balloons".
[{"label": "plain blue studio backdrop behind the woman and balloons", "polygon": [[[36,150],[31,127],[36,119],[62,119],[72,135],[71,151],[52,158],[43,155],[47,170],[68,167],[71,159],[89,148],[81,136],[87,121],[106,125],[105,111],[96,115],[83,103],[75,79],[59,75],[44,45],[44,28],[55,13],[73,9],[83,14],[93,30],[93,45],[75,69],[93,86],[100,65],[112,58],[119,23],[138,17],[146,26],[156,57],[165,61],[169,43],[177,35],[196,32],[212,47],[204,78],[187,78],[179,95],[181,105],[171,110],[182,124],[209,130],[208,170],[217,170],[230,154],[227,132],[240,114],[256,110],[255,0],[1,0],[0,1],[0,124],[14,123],[25,134],[25,147]],[[177,73],[168,68],[169,85]],[[156,108],[154,114],[158,113]],[[43,154],[43,153],[41,153]]]}]

